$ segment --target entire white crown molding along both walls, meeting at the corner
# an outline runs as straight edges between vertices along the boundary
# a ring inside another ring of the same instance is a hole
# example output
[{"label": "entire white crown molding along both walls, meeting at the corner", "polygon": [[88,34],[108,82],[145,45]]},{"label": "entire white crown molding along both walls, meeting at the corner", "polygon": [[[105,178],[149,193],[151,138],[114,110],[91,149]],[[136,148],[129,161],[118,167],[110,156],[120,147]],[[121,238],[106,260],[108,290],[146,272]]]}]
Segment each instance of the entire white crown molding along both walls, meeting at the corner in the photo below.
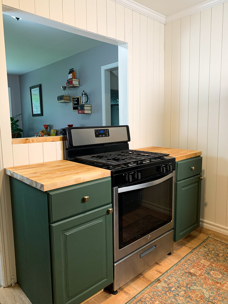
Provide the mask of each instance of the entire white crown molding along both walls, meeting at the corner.
[{"label": "entire white crown molding along both walls, meeting at the corner", "polygon": [[116,2],[120,5],[123,5],[123,6],[127,7],[128,9],[132,9],[133,11],[138,12],[144,16],[157,20],[158,22],[161,22],[163,24],[171,23],[175,20],[184,18],[186,16],[190,16],[192,14],[198,13],[205,9],[209,9],[215,5],[219,5],[221,3],[228,2],[228,0],[206,0],[199,4],[193,5],[193,6],[189,7],[188,9],[183,9],[182,11],[177,12],[175,14],[171,14],[169,16],[164,16],[156,11],[153,11],[153,9],[149,9],[148,7],[146,7],[140,3],[137,3],[133,0],[111,0],[111,1]]}]

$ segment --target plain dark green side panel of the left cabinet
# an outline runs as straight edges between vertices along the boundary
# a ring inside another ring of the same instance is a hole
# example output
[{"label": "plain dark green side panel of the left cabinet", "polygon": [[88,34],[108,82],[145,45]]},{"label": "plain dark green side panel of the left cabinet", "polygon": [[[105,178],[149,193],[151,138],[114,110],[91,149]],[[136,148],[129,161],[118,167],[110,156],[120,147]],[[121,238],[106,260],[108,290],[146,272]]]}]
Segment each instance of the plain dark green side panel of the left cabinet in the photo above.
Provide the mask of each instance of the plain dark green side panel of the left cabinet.
[{"label": "plain dark green side panel of the left cabinet", "polygon": [[47,193],[10,177],[17,282],[33,304],[51,304]]}]

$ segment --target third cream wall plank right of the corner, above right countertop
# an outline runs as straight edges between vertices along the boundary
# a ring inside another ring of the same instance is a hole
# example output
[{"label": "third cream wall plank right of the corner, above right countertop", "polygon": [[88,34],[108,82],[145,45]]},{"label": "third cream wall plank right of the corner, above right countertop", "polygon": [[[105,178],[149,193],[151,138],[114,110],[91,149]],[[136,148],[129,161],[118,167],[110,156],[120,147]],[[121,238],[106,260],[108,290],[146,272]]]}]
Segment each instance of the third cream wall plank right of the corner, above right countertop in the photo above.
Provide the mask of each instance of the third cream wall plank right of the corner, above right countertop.
[{"label": "third cream wall plank right of the corner, above right countertop", "polygon": [[190,16],[181,19],[179,148],[188,148]]}]

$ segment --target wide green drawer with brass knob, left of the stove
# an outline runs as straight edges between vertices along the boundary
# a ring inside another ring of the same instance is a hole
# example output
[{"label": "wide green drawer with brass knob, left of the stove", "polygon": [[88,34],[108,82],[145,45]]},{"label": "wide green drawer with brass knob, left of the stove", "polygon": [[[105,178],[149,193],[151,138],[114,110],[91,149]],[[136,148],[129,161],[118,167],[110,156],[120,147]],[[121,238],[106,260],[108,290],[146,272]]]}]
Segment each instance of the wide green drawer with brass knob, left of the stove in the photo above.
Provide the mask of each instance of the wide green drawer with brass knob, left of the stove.
[{"label": "wide green drawer with brass knob, left of the stove", "polygon": [[[88,196],[88,201],[84,197]],[[109,177],[48,191],[50,222],[85,212],[111,202]]]}]

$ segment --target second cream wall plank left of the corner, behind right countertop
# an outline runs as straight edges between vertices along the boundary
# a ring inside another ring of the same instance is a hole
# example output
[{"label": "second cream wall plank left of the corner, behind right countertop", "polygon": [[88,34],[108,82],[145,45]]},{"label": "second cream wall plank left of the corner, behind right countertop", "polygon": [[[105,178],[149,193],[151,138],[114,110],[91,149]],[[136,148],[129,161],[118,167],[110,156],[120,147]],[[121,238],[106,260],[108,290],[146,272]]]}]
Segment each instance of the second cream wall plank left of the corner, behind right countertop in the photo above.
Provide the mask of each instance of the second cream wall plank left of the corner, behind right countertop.
[{"label": "second cream wall plank left of the corner, behind right countertop", "polygon": [[153,145],[159,141],[159,67],[160,64],[160,23],[154,21],[154,92],[153,92]]}]

